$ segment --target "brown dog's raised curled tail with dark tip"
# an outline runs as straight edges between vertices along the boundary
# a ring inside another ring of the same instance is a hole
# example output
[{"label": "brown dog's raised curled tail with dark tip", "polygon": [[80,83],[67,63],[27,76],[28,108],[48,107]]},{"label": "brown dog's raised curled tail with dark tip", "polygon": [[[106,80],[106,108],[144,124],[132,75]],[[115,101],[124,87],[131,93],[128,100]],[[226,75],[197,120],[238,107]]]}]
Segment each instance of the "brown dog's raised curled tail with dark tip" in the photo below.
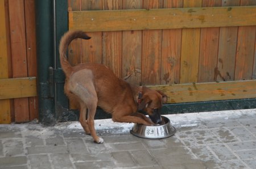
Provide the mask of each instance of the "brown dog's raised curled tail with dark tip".
[{"label": "brown dog's raised curled tail with dark tip", "polygon": [[66,52],[68,49],[68,45],[71,43],[73,39],[90,39],[89,36],[86,35],[85,32],[82,31],[68,31],[66,32],[63,37],[61,37],[60,40],[60,46],[59,46],[59,52],[60,52],[60,65],[66,75],[66,77],[69,77],[69,75],[72,72],[72,66],[69,64]]}]

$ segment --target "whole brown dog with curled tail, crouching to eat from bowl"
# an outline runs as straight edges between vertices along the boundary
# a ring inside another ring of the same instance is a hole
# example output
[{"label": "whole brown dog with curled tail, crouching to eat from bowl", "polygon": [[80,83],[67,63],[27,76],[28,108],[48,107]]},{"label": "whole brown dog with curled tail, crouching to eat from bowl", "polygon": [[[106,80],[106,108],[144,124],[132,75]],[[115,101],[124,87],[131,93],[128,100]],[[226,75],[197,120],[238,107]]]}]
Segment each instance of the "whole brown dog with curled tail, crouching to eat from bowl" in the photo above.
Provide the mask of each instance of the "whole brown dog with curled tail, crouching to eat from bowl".
[{"label": "whole brown dog with curled tail, crouching to eat from bowl", "polygon": [[[160,108],[167,102],[163,92],[147,87],[133,86],[115,76],[112,70],[101,64],[79,64],[71,66],[66,52],[73,39],[90,39],[82,31],[69,31],[60,40],[60,63],[66,75],[65,94],[80,108],[79,121],[86,134],[102,143],[94,129],[94,115],[97,106],[112,114],[116,122],[134,122],[144,125],[160,124]],[[86,119],[86,109],[88,118]],[[143,111],[150,116],[148,119]]]}]

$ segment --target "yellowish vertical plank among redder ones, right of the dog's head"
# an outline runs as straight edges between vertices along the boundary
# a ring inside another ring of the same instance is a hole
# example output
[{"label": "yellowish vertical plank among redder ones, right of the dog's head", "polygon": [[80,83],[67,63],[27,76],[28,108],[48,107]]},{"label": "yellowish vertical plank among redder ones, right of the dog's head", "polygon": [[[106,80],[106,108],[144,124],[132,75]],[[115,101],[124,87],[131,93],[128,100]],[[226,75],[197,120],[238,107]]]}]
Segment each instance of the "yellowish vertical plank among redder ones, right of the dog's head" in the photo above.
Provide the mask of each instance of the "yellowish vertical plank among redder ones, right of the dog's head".
[{"label": "yellowish vertical plank among redder ones, right of the dog's head", "polygon": [[[201,0],[183,1],[184,7],[199,7]],[[200,28],[182,30],[180,83],[197,82],[199,65]]]}]

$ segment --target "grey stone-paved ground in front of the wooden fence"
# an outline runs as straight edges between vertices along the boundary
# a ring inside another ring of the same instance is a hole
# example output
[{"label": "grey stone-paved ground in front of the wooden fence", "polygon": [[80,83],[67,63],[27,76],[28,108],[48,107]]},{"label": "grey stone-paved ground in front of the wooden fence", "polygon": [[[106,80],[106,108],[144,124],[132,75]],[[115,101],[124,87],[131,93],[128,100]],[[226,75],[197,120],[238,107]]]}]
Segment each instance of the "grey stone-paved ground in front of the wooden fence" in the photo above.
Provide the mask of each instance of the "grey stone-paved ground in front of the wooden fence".
[{"label": "grey stone-paved ground in front of the wooden fence", "polygon": [[256,168],[256,109],[167,117],[177,132],[162,140],[97,120],[101,145],[77,122],[0,125],[0,168]]}]

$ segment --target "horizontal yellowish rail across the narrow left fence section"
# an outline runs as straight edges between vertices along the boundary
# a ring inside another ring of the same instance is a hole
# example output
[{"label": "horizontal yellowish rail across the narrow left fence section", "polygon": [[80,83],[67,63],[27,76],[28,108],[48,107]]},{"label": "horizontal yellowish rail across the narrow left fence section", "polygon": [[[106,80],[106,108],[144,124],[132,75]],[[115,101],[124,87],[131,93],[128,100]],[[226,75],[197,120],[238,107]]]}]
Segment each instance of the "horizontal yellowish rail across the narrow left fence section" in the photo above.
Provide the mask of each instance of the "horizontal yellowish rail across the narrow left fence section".
[{"label": "horizontal yellowish rail across the narrow left fence section", "polygon": [[0,99],[36,96],[36,77],[0,79]]}]

